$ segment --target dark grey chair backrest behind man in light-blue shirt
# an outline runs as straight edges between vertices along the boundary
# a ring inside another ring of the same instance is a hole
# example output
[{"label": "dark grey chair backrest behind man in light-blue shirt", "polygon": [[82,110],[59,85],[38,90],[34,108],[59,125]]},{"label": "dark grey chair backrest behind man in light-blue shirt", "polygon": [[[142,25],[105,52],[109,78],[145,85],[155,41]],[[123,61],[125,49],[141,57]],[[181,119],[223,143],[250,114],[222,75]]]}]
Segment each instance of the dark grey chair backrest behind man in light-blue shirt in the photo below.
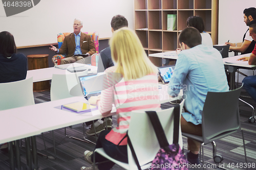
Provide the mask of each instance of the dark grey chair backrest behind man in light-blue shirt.
[{"label": "dark grey chair backrest behind man in light-blue shirt", "polygon": [[205,143],[214,136],[240,129],[238,101],[241,89],[207,93],[202,111]]}]

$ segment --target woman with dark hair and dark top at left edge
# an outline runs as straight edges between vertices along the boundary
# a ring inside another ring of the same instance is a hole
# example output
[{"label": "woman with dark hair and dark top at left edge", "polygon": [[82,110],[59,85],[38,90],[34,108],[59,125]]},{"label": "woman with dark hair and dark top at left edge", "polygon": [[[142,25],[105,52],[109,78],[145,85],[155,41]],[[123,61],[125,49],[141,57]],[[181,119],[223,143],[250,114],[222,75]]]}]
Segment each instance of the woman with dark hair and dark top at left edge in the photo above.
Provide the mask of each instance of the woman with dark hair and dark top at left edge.
[{"label": "woman with dark hair and dark top at left edge", "polygon": [[0,83],[26,79],[28,59],[24,54],[17,54],[17,47],[11,33],[0,33]]}]

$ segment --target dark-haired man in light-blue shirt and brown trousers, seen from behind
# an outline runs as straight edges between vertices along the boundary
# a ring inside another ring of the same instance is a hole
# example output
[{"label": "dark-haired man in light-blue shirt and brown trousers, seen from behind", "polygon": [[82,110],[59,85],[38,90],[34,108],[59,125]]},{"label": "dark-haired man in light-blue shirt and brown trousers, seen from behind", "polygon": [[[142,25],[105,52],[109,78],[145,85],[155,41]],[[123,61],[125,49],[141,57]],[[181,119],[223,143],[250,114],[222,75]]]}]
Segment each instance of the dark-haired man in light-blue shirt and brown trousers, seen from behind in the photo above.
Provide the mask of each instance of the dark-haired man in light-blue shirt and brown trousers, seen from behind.
[{"label": "dark-haired man in light-blue shirt and brown trousers, seen from behind", "polygon": [[[173,77],[168,84],[168,94],[177,96],[183,89],[185,112],[181,116],[181,131],[202,135],[202,110],[208,91],[223,92],[229,87],[220,52],[201,44],[200,32],[185,28],[179,35],[182,51],[176,61]],[[200,142],[187,139],[187,160],[199,164]]]}]

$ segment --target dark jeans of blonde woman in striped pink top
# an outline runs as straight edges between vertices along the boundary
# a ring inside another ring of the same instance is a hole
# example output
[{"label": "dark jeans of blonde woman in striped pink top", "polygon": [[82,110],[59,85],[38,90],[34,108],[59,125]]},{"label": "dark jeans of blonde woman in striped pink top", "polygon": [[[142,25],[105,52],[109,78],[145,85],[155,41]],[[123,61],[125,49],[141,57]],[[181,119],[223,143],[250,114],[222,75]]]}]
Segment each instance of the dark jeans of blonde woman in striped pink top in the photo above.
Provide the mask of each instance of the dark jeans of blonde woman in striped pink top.
[{"label": "dark jeans of blonde woman in striped pink top", "polygon": [[[105,136],[110,132],[110,130],[104,130],[101,131],[99,134],[99,138],[96,142],[95,149],[97,148],[103,148],[105,153],[108,154],[110,157],[121,161],[128,163],[128,156],[127,156],[127,145],[116,145],[109,140],[105,139]],[[93,161],[93,155],[92,155],[92,161]],[[101,156],[97,152],[95,153],[95,162],[102,162],[106,161],[105,157]],[[98,164],[98,169],[99,170],[109,170],[115,165],[114,162],[105,162],[105,163],[100,163]]]}]

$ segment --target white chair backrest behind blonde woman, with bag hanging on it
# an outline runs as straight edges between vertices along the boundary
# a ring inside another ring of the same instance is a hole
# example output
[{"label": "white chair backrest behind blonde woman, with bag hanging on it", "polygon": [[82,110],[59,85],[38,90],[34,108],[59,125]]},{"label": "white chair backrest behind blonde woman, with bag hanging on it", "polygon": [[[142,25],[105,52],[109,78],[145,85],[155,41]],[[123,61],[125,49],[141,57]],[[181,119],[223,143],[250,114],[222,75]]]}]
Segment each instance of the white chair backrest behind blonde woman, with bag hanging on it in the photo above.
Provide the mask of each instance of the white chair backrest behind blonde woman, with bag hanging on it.
[{"label": "white chair backrest behind blonde woman, with bag hanging on it", "polygon": [[[180,103],[180,114],[184,100]],[[169,144],[173,143],[174,108],[157,111],[157,115],[164,129]],[[139,125],[139,126],[138,126]],[[154,128],[150,118],[144,111],[132,111],[128,135],[133,144],[140,165],[153,161],[160,149]],[[179,133],[179,144],[183,147],[181,129]],[[127,147],[130,169],[137,169],[129,145]]]}]

